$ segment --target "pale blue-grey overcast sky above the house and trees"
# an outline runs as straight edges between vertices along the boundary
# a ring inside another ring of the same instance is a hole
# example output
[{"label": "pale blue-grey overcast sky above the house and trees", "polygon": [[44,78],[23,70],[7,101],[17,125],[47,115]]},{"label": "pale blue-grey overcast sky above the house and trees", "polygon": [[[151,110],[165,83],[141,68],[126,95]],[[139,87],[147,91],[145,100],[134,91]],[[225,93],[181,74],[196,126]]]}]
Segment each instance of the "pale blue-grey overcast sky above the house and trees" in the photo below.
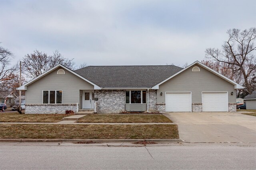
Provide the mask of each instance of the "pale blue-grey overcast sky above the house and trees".
[{"label": "pale blue-grey overcast sky above the house and trees", "polygon": [[77,64],[190,64],[228,29],[255,26],[256,0],[0,0],[0,42],[15,61],[58,49]]}]

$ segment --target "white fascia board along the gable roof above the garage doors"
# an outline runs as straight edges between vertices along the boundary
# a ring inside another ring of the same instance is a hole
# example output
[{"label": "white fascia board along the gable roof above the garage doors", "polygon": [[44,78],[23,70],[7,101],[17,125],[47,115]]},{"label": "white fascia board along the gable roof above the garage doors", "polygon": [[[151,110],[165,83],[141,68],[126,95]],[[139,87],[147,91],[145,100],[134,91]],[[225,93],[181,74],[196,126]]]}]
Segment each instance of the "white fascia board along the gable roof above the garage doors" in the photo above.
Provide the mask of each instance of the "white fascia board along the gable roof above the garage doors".
[{"label": "white fascia board along the gable roof above the garage doors", "polygon": [[236,83],[236,82],[230,80],[228,77],[225,77],[224,75],[218,73],[217,71],[211,69],[210,67],[204,65],[203,63],[200,63],[199,61],[195,61],[194,63],[192,63],[192,64],[190,64],[188,67],[186,67],[186,68],[180,70],[178,73],[172,75],[172,76],[169,77],[168,79],[165,79],[165,80],[162,81],[161,83],[158,83],[157,85],[155,85],[154,87],[152,87],[152,89],[159,89],[159,85],[161,85],[162,83],[164,83],[164,82],[170,80],[172,77],[174,77],[174,76],[180,74],[181,72],[183,72],[183,71],[185,71],[186,69],[190,68],[190,67],[191,67],[192,65],[194,65],[194,64],[198,64],[198,65],[204,67],[205,69],[207,69],[208,71],[210,71],[210,72],[212,72],[212,73],[215,73],[215,74],[218,75],[219,77],[222,77],[222,78],[225,79],[226,81],[228,81],[228,82],[230,82],[231,84],[233,84],[235,89],[244,89],[243,86],[241,86],[241,85],[239,85],[238,83]]}]

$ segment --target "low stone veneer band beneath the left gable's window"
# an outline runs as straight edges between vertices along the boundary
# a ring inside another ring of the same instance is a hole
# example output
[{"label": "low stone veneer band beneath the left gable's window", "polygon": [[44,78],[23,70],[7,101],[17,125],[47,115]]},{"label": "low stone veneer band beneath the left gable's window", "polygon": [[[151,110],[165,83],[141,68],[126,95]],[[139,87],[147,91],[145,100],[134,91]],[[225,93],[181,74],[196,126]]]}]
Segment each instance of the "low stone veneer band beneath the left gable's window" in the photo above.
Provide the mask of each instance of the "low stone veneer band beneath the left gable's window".
[{"label": "low stone veneer band beneath the left gable's window", "polygon": [[26,105],[25,114],[63,114],[66,110],[76,112],[76,104],[60,104],[60,105]]}]

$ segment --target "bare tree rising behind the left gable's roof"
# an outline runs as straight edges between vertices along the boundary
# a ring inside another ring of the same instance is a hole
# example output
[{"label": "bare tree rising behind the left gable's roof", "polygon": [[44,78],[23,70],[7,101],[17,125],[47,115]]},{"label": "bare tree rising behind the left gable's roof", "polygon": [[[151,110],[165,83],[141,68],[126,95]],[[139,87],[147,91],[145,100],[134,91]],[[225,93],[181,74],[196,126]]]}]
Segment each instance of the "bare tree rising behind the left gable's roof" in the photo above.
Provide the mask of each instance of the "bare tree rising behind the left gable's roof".
[{"label": "bare tree rising behind the left gable's roof", "polygon": [[36,50],[34,53],[25,55],[22,61],[24,72],[30,79],[41,75],[58,64],[74,69],[73,59],[64,58],[58,50],[54,51],[53,55],[47,55]]}]

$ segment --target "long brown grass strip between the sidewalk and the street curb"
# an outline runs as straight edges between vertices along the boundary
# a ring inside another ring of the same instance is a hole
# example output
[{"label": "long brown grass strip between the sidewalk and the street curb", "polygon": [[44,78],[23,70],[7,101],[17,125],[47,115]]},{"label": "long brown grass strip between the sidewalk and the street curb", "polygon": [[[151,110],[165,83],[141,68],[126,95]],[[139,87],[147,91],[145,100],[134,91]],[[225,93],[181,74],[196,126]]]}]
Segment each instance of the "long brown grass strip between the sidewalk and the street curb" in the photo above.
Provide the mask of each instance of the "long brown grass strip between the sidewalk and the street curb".
[{"label": "long brown grass strip between the sidewalk and the street curb", "polygon": [[0,138],[147,139],[179,138],[177,125],[2,124]]}]

